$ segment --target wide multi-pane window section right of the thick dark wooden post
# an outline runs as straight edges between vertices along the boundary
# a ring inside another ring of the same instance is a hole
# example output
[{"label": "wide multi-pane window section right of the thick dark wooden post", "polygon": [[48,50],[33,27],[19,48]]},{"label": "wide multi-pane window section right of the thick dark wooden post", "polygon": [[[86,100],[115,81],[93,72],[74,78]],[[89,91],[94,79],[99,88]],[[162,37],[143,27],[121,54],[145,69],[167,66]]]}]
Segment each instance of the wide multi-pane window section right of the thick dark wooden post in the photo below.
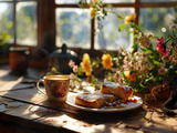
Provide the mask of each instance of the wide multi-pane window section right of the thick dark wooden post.
[{"label": "wide multi-pane window section right of the thick dark wooden post", "polygon": [[[87,0],[88,1],[88,0]],[[145,32],[163,35],[162,29],[167,29],[176,19],[176,0],[103,0],[112,3],[116,12],[136,13],[136,24]],[[100,21],[103,29],[96,28],[97,21],[91,20],[88,9],[81,9],[79,0],[55,0],[56,13],[56,45],[66,43],[70,48],[117,51],[121,47],[132,50],[133,34],[125,30],[118,32],[123,23],[114,14],[108,14]],[[93,22],[94,21],[94,22]]]}]

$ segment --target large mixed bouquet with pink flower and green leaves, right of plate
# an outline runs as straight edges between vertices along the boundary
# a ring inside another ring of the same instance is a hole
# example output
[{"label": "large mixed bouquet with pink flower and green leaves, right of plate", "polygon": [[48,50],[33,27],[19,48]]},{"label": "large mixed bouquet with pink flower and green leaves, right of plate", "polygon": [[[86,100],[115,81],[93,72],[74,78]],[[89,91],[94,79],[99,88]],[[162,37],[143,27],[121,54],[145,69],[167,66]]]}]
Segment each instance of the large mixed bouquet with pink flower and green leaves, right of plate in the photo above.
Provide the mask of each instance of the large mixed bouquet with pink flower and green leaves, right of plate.
[{"label": "large mixed bouquet with pink flower and green leaves, right of plate", "polygon": [[[177,25],[170,27],[165,41],[133,28],[138,33],[135,44],[140,52],[124,53],[122,81],[135,92],[145,93],[147,101],[169,98],[170,91],[177,89]],[[155,48],[152,39],[156,39]]]}]

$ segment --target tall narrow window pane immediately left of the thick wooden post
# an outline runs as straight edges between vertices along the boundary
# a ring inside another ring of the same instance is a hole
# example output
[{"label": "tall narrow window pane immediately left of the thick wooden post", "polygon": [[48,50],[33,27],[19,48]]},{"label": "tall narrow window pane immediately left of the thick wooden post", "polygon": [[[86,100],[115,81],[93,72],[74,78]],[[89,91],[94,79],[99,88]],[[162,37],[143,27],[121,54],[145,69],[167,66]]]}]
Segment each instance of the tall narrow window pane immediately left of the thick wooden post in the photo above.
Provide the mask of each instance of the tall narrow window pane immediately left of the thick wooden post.
[{"label": "tall narrow window pane immediately left of the thick wooden post", "polygon": [[17,43],[37,45],[37,2],[17,4]]}]

